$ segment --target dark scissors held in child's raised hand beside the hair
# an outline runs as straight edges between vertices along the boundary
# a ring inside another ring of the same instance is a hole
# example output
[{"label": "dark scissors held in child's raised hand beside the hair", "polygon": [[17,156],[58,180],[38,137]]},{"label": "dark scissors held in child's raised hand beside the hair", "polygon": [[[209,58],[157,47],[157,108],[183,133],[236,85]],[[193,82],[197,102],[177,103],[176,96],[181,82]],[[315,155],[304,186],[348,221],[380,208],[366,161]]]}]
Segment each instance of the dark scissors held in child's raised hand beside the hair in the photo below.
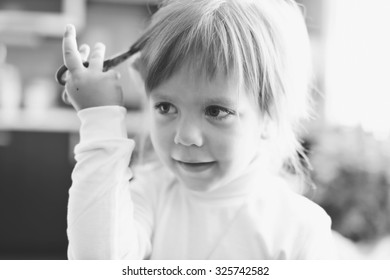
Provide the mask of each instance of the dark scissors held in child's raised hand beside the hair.
[{"label": "dark scissors held in child's raised hand beside the hair", "polygon": [[[141,50],[141,46],[140,45],[141,44],[139,43],[139,41],[137,41],[126,52],[121,53],[121,54],[119,54],[117,56],[114,56],[113,58],[106,59],[104,61],[104,63],[103,63],[103,72],[106,72],[107,70],[117,66],[118,64],[122,63],[123,61],[128,59],[133,54],[139,52]],[[89,62],[85,61],[83,63],[83,65],[85,67],[88,67],[89,66]],[[64,80],[64,74],[65,74],[66,71],[68,71],[68,68],[65,65],[62,65],[60,68],[58,68],[58,70],[56,72],[56,75],[55,75],[56,81],[60,85],[62,85],[62,86],[65,86],[65,84],[66,84],[66,81]]]}]

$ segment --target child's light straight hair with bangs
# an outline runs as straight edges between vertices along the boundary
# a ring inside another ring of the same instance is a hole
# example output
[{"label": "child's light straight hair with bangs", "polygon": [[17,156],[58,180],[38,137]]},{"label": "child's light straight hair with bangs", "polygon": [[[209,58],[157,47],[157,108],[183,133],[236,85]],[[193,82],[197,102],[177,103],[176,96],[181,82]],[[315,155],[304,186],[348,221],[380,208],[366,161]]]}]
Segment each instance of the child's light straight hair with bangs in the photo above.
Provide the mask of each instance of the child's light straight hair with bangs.
[{"label": "child's light straight hair with bangs", "polygon": [[296,130],[308,116],[311,54],[293,0],[164,1],[140,41],[147,92],[185,64],[210,80],[238,75],[277,124],[281,158],[300,172]]}]

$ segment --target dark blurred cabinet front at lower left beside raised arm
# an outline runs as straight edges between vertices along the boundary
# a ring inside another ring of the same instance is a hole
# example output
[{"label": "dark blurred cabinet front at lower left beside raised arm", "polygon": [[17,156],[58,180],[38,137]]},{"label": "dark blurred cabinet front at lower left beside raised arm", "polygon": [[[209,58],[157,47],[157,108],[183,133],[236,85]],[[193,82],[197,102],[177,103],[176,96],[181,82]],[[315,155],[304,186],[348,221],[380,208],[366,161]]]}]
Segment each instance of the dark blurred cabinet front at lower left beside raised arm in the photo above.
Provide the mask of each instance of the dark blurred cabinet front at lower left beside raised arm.
[{"label": "dark blurred cabinet front at lower left beside raised arm", "polygon": [[69,135],[1,133],[0,259],[66,259]]}]

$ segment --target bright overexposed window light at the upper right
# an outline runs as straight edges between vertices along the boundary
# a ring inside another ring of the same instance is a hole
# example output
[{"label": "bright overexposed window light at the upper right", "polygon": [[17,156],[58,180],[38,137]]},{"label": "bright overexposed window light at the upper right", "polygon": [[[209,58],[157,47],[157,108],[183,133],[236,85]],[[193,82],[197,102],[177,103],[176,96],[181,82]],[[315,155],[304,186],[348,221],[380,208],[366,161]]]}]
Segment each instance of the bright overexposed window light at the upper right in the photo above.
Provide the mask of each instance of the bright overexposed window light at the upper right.
[{"label": "bright overexposed window light at the upper right", "polygon": [[390,135],[390,1],[327,0],[325,114]]}]

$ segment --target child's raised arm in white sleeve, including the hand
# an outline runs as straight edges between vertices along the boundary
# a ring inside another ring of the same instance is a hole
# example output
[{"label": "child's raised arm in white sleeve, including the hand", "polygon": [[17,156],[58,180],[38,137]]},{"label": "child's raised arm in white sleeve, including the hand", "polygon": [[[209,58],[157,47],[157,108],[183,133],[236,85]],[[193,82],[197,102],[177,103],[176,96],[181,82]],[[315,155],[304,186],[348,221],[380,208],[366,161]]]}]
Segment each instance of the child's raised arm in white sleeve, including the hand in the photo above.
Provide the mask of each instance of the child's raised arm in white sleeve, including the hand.
[{"label": "child's raised arm in white sleeve, including the hand", "polygon": [[[151,251],[151,231],[134,214],[137,200],[130,193],[128,168],[134,141],[127,138],[126,110],[118,106],[118,76],[102,72],[102,44],[92,50],[89,67],[83,66],[86,52],[77,50],[72,26],[65,33],[63,51],[69,69],[66,91],[81,120],[69,191],[68,257],[143,259]],[[147,205],[142,207],[145,215],[152,215]]]}]

